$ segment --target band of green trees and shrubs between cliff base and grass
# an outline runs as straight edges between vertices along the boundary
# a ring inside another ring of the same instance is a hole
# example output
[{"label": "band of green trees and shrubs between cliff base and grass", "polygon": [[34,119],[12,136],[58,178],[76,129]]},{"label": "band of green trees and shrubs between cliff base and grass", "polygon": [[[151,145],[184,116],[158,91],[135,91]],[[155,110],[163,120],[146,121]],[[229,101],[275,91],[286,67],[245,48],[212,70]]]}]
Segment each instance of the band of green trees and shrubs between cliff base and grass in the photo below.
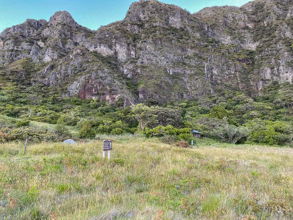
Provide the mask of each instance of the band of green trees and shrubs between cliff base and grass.
[{"label": "band of green trees and shrubs between cliff base and grass", "polygon": [[203,137],[221,142],[293,146],[293,86],[274,83],[261,93],[251,98],[226,91],[223,96],[193,101],[123,108],[123,102],[60,97],[41,84],[26,87],[8,82],[0,90],[0,142],[124,133],[143,133],[166,142],[190,141],[190,131],[196,129]]}]

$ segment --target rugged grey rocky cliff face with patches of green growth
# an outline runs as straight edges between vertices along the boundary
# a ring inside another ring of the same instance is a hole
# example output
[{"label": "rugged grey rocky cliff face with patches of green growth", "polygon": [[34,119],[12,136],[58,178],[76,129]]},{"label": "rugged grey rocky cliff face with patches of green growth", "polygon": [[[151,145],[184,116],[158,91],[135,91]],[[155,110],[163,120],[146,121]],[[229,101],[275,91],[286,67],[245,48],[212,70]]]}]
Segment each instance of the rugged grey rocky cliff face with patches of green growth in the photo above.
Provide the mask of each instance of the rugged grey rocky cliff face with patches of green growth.
[{"label": "rugged grey rocky cliff face with patches of green growth", "polygon": [[150,0],[134,2],[124,20],[91,31],[58,11],[49,22],[27,19],[1,33],[0,77],[125,105],[225,90],[257,96],[272,81],[292,83],[292,15],[292,0],[194,14]]}]

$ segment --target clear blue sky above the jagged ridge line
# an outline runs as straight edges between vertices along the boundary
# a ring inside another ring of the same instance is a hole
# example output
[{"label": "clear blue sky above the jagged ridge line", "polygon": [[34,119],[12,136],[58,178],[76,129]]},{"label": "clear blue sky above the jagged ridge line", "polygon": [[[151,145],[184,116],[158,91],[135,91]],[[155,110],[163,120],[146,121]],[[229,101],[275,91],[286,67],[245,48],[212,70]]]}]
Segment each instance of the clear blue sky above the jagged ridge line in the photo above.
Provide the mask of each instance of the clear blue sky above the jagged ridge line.
[{"label": "clear blue sky above the jagged ridge line", "polygon": [[[122,20],[134,0],[0,0],[0,32],[5,28],[25,22],[27,18],[45,19],[56,11],[68,11],[74,20],[91,30]],[[190,13],[205,7],[242,6],[248,0],[161,0],[174,4]]]}]

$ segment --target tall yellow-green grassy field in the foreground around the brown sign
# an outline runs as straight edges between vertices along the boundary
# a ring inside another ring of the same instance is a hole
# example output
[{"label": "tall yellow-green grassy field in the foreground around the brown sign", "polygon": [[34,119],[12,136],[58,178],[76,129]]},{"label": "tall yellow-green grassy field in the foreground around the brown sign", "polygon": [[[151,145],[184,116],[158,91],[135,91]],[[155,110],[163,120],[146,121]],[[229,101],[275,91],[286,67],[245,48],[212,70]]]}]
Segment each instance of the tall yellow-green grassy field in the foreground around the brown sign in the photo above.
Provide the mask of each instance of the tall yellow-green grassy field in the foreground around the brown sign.
[{"label": "tall yellow-green grassy field in the foreground around the brown sign", "polygon": [[0,144],[0,219],[293,219],[292,148],[110,138]]}]

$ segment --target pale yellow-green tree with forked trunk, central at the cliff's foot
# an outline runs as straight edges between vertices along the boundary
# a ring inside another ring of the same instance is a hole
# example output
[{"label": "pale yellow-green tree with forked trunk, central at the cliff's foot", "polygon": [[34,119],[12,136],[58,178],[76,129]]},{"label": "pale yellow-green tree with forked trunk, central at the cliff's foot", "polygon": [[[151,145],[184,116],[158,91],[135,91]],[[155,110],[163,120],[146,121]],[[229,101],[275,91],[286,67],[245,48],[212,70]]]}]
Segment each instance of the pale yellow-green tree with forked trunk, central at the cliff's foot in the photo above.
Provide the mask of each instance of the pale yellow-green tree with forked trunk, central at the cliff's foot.
[{"label": "pale yellow-green tree with forked trunk, central at the cliff's foot", "polygon": [[132,107],[132,113],[134,114],[135,118],[139,122],[139,125],[144,131],[144,129],[150,125],[157,123],[157,115],[156,110],[153,106],[149,107],[145,104],[137,104],[136,106]]}]

